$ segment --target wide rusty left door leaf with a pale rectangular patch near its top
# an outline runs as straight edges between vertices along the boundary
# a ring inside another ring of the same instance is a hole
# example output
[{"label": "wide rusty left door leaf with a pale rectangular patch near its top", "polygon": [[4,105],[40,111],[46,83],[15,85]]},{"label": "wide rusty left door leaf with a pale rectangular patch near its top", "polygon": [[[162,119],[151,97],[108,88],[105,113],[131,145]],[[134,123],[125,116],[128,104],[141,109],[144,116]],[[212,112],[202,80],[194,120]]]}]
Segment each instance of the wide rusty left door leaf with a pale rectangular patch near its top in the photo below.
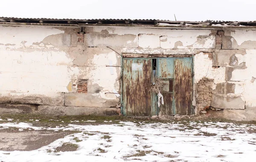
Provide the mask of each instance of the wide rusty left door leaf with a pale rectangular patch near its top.
[{"label": "wide rusty left door leaf with a pale rectangular patch near its top", "polygon": [[125,115],[150,116],[152,59],[124,58],[123,110]]}]

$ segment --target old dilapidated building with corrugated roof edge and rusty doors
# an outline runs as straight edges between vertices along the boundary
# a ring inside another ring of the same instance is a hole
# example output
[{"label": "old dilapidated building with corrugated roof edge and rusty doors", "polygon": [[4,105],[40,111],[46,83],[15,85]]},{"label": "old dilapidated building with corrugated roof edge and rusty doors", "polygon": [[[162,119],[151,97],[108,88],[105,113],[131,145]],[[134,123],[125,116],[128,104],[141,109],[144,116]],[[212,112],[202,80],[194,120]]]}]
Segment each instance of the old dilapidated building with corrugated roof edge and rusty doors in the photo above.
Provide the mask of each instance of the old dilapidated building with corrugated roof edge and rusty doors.
[{"label": "old dilapidated building with corrugated roof edge and rusty doors", "polygon": [[256,120],[255,26],[0,17],[0,114]]}]

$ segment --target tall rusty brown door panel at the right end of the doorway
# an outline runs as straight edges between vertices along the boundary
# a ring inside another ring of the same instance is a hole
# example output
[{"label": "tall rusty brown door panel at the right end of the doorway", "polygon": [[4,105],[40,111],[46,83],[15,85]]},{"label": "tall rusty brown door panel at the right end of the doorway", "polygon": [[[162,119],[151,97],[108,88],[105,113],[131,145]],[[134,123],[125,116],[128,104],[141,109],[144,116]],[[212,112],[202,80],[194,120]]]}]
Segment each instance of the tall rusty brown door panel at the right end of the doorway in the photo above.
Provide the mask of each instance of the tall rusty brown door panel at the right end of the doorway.
[{"label": "tall rusty brown door panel at the right end of the doorway", "polygon": [[175,113],[192,114],[192,59],[175,59]]}]

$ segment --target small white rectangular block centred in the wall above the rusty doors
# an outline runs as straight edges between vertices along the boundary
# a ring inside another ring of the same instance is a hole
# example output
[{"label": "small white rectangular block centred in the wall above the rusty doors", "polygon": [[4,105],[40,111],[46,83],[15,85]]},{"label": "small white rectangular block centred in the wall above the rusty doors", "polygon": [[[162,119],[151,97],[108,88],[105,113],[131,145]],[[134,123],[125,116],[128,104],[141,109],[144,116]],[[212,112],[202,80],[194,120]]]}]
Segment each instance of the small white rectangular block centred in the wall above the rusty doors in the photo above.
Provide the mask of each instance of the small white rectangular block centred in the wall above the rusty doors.
[{"label": "small white rectangular block centred in the wall above the rusty doors", "polygon": [[139,46],[142,48],[158,48],[160,47],[160,36],[140,34]]}]

